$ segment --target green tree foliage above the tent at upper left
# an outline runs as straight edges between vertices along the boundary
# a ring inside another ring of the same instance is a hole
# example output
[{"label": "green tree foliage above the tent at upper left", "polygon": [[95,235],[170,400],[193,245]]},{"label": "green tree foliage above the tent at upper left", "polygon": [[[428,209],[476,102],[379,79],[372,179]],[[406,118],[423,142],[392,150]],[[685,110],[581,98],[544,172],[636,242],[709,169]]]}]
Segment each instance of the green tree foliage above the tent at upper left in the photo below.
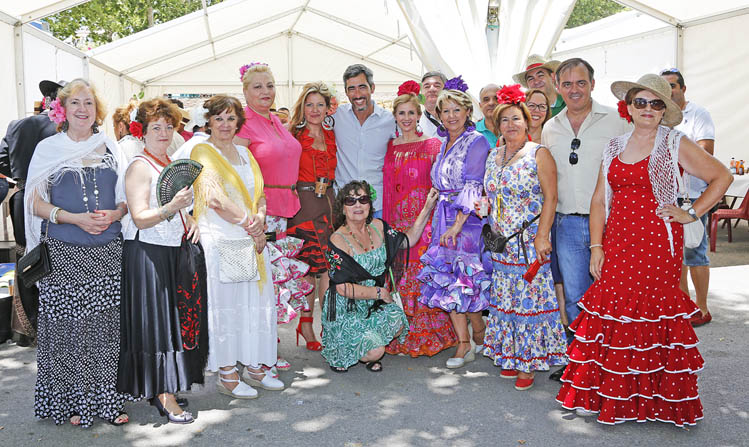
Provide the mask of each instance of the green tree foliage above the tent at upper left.
[{"label": "green tree foliage above the tent at upper left", "polygon": [[[207,4],[221,1],[208,0]],[[151,25],[158,25],[202,7],[200,0],[92,0],[47,20],[52,34],[60,40],[75,40],[76,31],[81,26],[88,27],[88,43],[98,46],[148,28],[151,13]]]}]

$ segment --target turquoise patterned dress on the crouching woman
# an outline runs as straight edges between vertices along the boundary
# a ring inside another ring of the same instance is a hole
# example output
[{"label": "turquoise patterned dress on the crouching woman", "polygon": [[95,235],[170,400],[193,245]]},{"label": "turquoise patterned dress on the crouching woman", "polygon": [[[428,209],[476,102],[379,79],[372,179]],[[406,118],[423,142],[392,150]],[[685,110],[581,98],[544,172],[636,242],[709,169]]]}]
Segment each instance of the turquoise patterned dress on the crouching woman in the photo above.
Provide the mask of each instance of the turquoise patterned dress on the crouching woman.
[{"label": "turquoise patterned dress on the crouching woman", "polygon": [[[370,225],[370,228],[378,232],[377,228]],[[373,276],[379,276],[385,271],[386,250],[385,243],[374,250],[365,253],[356,253],[351,242],[344,236],[343,239],[351,247],[352,257],[364,269]],[[333,245],[331,243],[331,245]],[[336,268],[340,267],[340,257],[330,255],[328,260],[331,265],[329,273],[335,274]],[[358,284],[363,286],[373,286],[374,280],[362,281]],[[331,292],[334,292],[331,284]],[[328,299],[330,293],[326,294],[323,302],[323,309],[328,308]],[[408,319],[403,309],[395,303],[382,306],[378,311],[372,312],[367,318],[369,308],[375,300],[353,300],[354,309],[348,308],[349,299],[338,293],[333,293],[335,299],[336,319],[329,321],[327,318],[322,319],[323,325],[323,350],[322,356],[328,361],[330,366],[336,368],[348,368],[356,364],[360,358],[372,349],[384,347],[390,343],[398,331],[402,332],[398,337],[400,343],[403,343],[408,334]]]}]

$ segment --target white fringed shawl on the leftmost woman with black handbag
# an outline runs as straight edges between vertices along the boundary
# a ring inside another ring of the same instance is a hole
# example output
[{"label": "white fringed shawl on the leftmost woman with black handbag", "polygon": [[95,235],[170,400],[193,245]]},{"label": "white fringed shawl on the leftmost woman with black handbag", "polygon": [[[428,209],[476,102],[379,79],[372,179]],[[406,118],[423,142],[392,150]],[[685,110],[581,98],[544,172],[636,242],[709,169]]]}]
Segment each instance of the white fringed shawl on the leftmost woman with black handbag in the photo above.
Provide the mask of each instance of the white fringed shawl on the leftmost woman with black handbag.
[{"label": "white fringed shawl on the leftmost woman with black handbag", "polygon": [[115,202],[125,202],[125,169],[127,161],[117,144],[103,132],[93,134],[86,141],[75,142],[65,132],[45,138],[36,146],[31,157],[24,195],[24,218],[26,224],[26,253],[39,245],[42,234],[42,219],[34,214],[34,197],[37,195],[49,202],[50,186],[59,182],[66,172],[75,172],[83,179],[83,159],[99,158],[107,162],[108,157],[98,154],[96,149],[104,144],[112,153],[117,172]]}]

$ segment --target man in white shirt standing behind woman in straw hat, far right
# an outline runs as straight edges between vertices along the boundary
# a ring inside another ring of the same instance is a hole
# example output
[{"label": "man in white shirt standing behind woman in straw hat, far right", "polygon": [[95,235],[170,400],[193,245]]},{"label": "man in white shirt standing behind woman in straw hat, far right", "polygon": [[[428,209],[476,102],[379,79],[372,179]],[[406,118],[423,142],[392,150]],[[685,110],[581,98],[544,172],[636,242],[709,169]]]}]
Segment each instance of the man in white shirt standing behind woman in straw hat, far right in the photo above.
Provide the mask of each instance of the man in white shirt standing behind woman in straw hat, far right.
[{"label": "man in white shirt standing behind woman in straw hat, far right", "polygon": [[[710,112],[704,107],[687,101],[684,93],[687,86],[684,84],[684,77],[676,68],[670,68],[661,72],[663,79],[671,84],[671,99],[681,107],[681,113],[684,119],[675,127],[686,134],[689,139],[696,142],[710,155],[715,150],[715,125],[710,117]],[[705,192],[707,183],[702,179],[689,174],[684,174],[684,183],[689,190],[689,198],[694,202]],[[702,224],[707,226],[707,213],[700,219]],[[697,295],[697,306],[700,313],[692,317],[692,326],[702,326],[709,323],[713,317],[707,309],[707,289],[710,285],[710,258],[707,257],[707,228],[702,237],[702,242],[696,248],[684,247],[684,265],[681,269],[681,289],[689,293],[687,284],[687,272],[692,277],[694,291]]]}]

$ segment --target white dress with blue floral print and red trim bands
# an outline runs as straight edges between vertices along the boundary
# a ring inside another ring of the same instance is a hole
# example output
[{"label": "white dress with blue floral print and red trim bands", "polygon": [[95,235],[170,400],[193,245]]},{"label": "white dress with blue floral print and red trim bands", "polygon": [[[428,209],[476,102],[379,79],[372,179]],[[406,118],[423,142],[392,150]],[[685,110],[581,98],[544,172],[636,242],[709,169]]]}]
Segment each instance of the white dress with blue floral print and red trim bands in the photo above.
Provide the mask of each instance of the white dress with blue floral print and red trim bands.
[{"label": "white dress with blue floral print and red trim bands", "polygon": [[[526,143],[530,144],[530,143]],[[502,148],[494,148],[486,160],[484,189],[492,204],[489,222],[494,231],[509,236],[522,228],[524,222],[541,213],[544,196],[538,179],[536,151],[506,166],[495,160]],[[497,197],[502,212],[497,220]],[[536,260],[533,241],[538,221],[524,234],[528,264]],[[484,355],[502,369],[523,372],[547,371],[553,365],[566,365],[567,342],[554,293],[554,280],[549,263],[541,266],[531,283],[523,279],[528,270],[520,247],[520,238],[512,238],[503,253],[492,253],[492,291],[489,320],[484,338]]]}]

